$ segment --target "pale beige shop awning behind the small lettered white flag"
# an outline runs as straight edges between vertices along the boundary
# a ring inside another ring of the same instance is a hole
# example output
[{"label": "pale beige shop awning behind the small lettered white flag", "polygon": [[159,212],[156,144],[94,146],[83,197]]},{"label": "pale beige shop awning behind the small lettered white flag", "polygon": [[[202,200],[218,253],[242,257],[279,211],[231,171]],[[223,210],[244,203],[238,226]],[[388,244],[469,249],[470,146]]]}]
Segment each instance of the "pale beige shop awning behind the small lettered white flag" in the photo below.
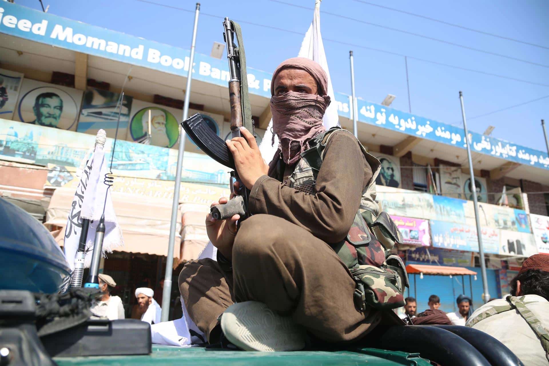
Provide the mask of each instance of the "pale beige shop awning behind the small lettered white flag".
[{"label": "pale beige shop awning behind the small lettered white flag", "polygon": [[[55,240],[63,245],[65,226],[75,189],[58,188],[52,195],[46,212],[46,226],[61,227],[55,234]],[[149,198],[141,195],[113,192],[114,212],[122,229],[124,246],[116,251],[144,253],[165,256],[170,235],[172,201]],[[178,212],[175,247],[173,256],[180,253],[181,213]]]}]

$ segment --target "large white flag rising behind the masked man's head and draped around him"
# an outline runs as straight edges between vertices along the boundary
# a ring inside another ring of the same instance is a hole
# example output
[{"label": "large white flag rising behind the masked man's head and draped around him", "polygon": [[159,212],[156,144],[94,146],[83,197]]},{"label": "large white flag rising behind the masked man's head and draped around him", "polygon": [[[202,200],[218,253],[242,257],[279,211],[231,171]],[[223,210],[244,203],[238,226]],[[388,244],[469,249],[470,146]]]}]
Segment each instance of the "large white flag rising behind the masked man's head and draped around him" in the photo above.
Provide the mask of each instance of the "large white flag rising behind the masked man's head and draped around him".
[{"label": "large white flag rising behind the masked man's head and draped around him", "polygon": [[[330,73],[328,71],[328,63],[326,62],[326,53],[324,53],[324,46],[322,44],[322,36],[320,34],[320,2],[322,0],[315,0],[315,13],[313,15],[311,26],[305,38],[301,43],[301,49],[299,50],[298,57],[306,57],[316,61],[322,66],[326,75],[328,76],[328,95],[332,100],[332,103],[326,109],[324,114],[324,127],[326,129],[334,126],[339,126],[338,110],[334,99],[334,89],[332,88],[332,81],[330,80]],[[261,156],[268,164],[273,155],[275,155],[278,148],[278,138],[275,135],[275,144],[271,145],[272,132],[271,127],[273,121],[269,122],[265,136],[259,146]],[[211,241],[206,245],[205,249],[201,252],[199,259],[212,258],[216,260],[217,249],[211,244]],[[152,340],[156,344],[164,344],[170,346],[183,346],[188,347],[195,343],[195,337],[198,339],[204,339],[204,334],[198,330],[198,327],[193,323],[193,320],[189,318],[187,309],[184,303],[182,303],[183,317],[181,319],[172,320],[171,322],[164,322],[159,324],[153,324],[151,328]],[[197,341],[199,343],[200,341]]]}]

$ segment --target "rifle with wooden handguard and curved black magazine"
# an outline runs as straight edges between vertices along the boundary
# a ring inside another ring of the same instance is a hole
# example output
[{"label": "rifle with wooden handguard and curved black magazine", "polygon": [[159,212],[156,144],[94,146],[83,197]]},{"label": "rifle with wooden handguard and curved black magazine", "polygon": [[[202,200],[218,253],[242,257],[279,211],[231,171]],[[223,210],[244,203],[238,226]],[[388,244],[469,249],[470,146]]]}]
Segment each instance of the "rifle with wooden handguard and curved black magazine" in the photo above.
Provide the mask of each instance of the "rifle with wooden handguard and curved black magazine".
[{"label": "rifle with wooden handguard and curved black magazine", "polygon": [[[229,20],[229,18],[225,18],[223,27],[225,29],[223,37],[227,44],[227,59],[229,60],[229,75],[231,77],[229,80],[229,102],[231,103],[231,135],[234,138],[240,137],[240,127],[243,126],[254,134],[254,125],[251,120],[248,97],[248,74],[242,32],[238,23]],[[238,46],[234,44],[234,36],[236,36]],[[224,205],[212,207],[211,215],[216,219],[225,219],[238,213],[240,215],[239,222],[247,218],[249,216],[248,198],[250,192],[238,178],[233,156],[225,141],[208,127],[198,113],[181,122],[181,126],[204,153],[220,164],[233,169],[230,173],[231,193],[236,196]],[[239,182],[239,189],[235,191],[234,182],[237,181]]]}]

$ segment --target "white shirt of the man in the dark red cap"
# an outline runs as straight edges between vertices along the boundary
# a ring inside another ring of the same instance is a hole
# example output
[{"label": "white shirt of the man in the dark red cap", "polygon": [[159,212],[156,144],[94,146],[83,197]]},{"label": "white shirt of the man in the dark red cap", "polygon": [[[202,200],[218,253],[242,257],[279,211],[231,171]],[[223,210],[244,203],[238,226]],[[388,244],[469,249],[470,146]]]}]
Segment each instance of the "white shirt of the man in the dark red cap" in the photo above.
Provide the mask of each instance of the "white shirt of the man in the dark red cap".
[{"label": "white shirt of the man in the dark red cap", "polygon": [[[540,320],[541,325],[545,329],[549,329],[549,301],[538,295],[526,295],[524,302],[534,313],[534,316]],[[496,306],[507,306],[508,304],[505,299],[492,300],[479,307],[469,319]],[[525,365],[547,365],[547,358],[540,339],[517,309],[494,314],[480,320],[471,328],[481,330],[502,342]]]}]

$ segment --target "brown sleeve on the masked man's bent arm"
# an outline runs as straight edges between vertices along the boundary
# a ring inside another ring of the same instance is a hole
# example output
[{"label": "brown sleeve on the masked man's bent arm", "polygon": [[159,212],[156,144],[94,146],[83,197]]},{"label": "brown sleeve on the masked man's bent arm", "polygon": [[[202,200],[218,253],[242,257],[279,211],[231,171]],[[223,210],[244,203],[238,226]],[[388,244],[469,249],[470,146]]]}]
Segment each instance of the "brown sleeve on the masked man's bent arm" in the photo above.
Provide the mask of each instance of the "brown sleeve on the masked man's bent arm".
[{"label": "brown sleeve on the masked man's bent arm", "polygon": [[[286,167],[284,179],[294,167]],[[316,194],[299,192],[281,183],[282,177],[277,178],[280,180],[266,175],[257,179],[250,193],[250,213],[284,218],[326,243],[337,243],[349,233],[372,169],[355,137],[341,131],[326,144]]]}]

